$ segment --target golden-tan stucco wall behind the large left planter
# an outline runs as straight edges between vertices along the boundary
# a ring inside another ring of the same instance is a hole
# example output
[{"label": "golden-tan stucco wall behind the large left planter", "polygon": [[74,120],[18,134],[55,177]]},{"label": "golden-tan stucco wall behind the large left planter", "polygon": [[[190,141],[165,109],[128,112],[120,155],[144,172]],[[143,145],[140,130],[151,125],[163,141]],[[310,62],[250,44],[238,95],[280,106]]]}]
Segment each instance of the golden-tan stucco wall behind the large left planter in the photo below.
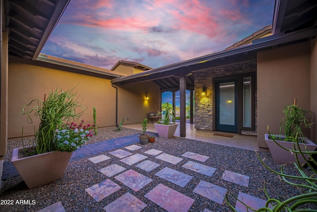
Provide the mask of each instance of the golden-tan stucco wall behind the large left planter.
[{"label": "golden-tan stucco wall behind the large left planter", "polygon": [[[159,102],[159,87],[153,86],[152,82],[147,84],[148,86],[135,84],[127,87],[129,90],[118,87],[118,123],[123,117],[124,124],[141,122],[145,111],[156,109],[156,104],[152,102],[146,105],[142,98],[145,88],[148,87],[153,98]],[[75,90],[78,91],[79,98],[83,99],[82,103],[87,108],[86,114],[82,116],[85,123],[93,123],[93,107],[95,107],[97,126],[114,126],[115,89],[109,79],[9,61],[8,137],[20,137],[22,127],[24,136],[34,135],[34,126],[39,126],[39,121],[28,124],[27,117],[21,115],[24,104],[35,98],[44,99],[44,94],[57,86],[67,90],[76,85]],[[127,117],[129,120],[126,120]]]}]

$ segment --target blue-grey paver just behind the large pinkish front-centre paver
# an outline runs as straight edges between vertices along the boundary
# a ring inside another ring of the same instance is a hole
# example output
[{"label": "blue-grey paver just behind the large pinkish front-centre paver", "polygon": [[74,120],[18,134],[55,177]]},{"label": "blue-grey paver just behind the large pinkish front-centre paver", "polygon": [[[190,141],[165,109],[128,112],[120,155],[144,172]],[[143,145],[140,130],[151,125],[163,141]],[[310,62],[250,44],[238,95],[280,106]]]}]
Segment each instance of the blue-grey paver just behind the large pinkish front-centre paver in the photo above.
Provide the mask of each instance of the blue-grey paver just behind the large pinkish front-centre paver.
[{"label": "blue-grey paver just behind the large pinkish front-centre paver", "polygon": [[193,178],[188,174],[184,174],[168,167],[163,168],[155,175],[183,188]]}]

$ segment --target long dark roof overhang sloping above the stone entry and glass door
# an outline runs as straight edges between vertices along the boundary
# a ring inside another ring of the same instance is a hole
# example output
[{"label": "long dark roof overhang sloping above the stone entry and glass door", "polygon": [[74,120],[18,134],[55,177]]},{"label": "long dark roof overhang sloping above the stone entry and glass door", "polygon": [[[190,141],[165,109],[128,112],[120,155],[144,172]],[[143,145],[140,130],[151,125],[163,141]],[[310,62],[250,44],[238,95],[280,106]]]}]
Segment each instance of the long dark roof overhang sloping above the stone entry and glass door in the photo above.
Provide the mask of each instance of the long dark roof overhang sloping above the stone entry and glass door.
[{"label": "long dark roof overhang sloping above the stone entry and glass door", "polygon": [[[292,33],[289,35],[272,35],[257,40],[254,44],[230,49],[227,51],[217,52],[211,55],[194,58],[169,66],[160,67],[157,69],[136,73],[129,76],[123,76],[112,79],[112,83],[116,84],[130,84],[142,81],[155,80],[171,80],[170,77],[191,76],[195,71],[204,69],[234,64],[244,61],[256,60],[257,52],[276,48],[279,46],[289,45],[296,42],[303,42],[310,40],[317,35],[317,29],[307,30],[305,32]],[[178,88],[178,82],[175,81],[174,86],[170,89]],[[163,87],[161,87],[164,89]],[[166,89],[166,88],[165,88]]]}]

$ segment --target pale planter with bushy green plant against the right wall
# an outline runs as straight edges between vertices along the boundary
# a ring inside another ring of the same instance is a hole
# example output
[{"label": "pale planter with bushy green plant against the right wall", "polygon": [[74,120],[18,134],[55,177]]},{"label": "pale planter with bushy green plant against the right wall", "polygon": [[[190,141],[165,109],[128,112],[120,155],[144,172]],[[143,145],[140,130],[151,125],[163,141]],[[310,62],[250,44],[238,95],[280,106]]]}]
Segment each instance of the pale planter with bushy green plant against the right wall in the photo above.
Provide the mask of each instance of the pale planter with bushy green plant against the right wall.
[{"label": "pale planter with bushy green plant against the right wall", "polygon": [[[309,155],[298,154],[298,160],[296,160],[296,154],[299,151],[314,151],[317,144],[309,140],[303,135],[302,127],[310,128],[312,112],[301,109],[296,105],[296,99],[293,105],[286,105],[283,111],[285,117],[280,122],[279,135],[265,134],[266,144],[272,154],[274,161],[294,165],[295,162],[299,162],[299,166],[305,164],[305,159],[308,159]],[[282,132],[285,134],[282,135]],[[290,150],[291,149],[291,150]]]}]

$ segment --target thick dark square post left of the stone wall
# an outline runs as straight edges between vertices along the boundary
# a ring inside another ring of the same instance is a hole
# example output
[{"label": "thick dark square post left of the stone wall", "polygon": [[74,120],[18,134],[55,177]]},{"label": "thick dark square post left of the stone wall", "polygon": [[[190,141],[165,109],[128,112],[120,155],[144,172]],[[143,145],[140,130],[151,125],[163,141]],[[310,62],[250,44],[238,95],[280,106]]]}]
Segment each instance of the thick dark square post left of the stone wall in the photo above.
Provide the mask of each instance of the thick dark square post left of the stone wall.
[{"label": "thick dark square post left of the stone wall", "polygon": [[186,137],[186,78],[179,77],[179,103],[180,103],[180,137]]}]

